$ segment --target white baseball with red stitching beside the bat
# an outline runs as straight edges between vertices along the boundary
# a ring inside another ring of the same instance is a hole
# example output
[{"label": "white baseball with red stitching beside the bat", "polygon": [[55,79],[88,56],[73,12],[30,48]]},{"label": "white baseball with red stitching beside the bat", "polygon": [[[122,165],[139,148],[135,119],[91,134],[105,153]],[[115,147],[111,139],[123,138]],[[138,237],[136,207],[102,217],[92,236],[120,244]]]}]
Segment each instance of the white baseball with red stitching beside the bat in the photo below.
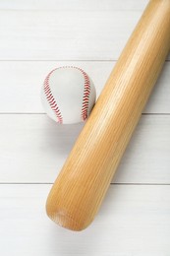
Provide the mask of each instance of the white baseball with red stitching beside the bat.
[{"label": "white baseball with red stitching beside the bat", "polygon": [[85,71],[59,67],[46,77],[41,101],[45,112],[58,123],[85,121],[95,103],[95,88]]}]

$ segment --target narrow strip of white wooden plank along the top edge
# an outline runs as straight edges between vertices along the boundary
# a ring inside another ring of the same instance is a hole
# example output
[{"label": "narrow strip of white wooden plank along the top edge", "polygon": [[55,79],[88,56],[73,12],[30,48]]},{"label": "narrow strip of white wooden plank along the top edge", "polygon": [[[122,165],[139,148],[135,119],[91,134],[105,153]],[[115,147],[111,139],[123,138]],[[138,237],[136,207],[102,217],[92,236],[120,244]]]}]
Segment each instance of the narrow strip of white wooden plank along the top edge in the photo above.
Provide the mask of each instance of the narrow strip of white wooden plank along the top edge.
[{"label": "narrow strip of white wooden plank along the top edge", "polygon": [[96,11],[128,11],[128,10],[142,10],[147,4],[148,0],[134,1],[134,0],[29,0],[24,2],[22,0],[8,0],[0,1],[0,9],[3,10],[52,10],[57,12],[63,11],[79,11],[79,12],[96,12]]}]

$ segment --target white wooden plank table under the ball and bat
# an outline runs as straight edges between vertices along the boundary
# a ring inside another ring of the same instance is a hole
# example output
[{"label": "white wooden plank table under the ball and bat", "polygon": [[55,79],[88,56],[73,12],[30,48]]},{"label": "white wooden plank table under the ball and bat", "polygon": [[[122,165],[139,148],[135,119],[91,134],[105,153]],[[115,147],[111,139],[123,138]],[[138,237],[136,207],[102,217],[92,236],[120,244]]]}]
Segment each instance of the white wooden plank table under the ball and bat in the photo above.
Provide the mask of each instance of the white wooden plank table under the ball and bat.
[{"label": "white wooden plank table under the ball and bat", "polygon": [[170,255],[170,56],[93,224],[73,232],[45,214],[83,125],[46,116],[43,80],[76,65],[98,96],[147,2],[0,1],[0,255]]}]

